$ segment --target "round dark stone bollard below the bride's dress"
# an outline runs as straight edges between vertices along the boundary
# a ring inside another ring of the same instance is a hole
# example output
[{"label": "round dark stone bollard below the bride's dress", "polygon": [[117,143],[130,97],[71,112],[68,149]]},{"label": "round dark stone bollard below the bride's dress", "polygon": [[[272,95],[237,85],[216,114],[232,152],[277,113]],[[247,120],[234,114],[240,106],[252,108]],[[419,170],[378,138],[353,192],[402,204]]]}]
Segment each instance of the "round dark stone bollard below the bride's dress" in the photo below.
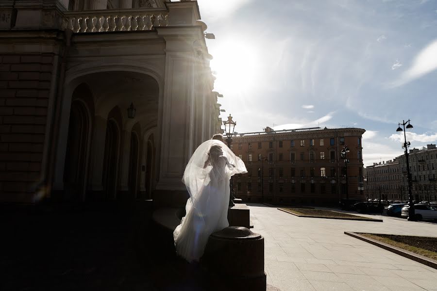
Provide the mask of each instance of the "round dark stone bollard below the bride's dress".
[{"label": "round dark stone bollard below the bride's dress", "polygon": [[264,238],[246,227],[230,226],[210,235],[201,264],[227,290],[266,291]]}]

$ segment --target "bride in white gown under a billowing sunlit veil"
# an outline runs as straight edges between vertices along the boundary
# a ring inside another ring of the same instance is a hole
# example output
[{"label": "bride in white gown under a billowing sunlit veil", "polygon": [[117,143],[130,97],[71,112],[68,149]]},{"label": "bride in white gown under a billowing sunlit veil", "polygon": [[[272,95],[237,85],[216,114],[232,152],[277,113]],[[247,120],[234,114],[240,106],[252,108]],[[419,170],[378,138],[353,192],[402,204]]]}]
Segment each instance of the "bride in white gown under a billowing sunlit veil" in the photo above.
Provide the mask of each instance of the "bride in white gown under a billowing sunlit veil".
[{"label": "bride in white gown under a billowing sunlit veil", "polygon": [[240,173],[247,173],[244,162],[218,140],[200,145],[186,165],[182,181],[190,197],[173,237],[176,253],[188,262],[199,261],[210,234],[229,226],[229,179]]}]

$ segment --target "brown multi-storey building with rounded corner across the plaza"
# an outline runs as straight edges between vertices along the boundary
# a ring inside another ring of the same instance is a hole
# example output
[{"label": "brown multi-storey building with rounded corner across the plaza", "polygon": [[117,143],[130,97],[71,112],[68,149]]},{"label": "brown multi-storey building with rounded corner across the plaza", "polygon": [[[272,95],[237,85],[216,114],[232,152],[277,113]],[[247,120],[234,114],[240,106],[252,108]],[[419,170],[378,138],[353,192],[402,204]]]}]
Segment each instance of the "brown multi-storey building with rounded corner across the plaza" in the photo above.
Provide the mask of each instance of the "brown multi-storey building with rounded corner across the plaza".
[{"label": "brown multi-storey building with rounded corner across the plaza", "polygon": [[[247,174],[234,178],[237,198],[247,202],[337,205],[341,198],[364,200],[364,129],[292,129],[240,133],[232,150]],[[340,152],[348,146],[348,184]],[[347,194],[348,192],[348,194]]]}]

